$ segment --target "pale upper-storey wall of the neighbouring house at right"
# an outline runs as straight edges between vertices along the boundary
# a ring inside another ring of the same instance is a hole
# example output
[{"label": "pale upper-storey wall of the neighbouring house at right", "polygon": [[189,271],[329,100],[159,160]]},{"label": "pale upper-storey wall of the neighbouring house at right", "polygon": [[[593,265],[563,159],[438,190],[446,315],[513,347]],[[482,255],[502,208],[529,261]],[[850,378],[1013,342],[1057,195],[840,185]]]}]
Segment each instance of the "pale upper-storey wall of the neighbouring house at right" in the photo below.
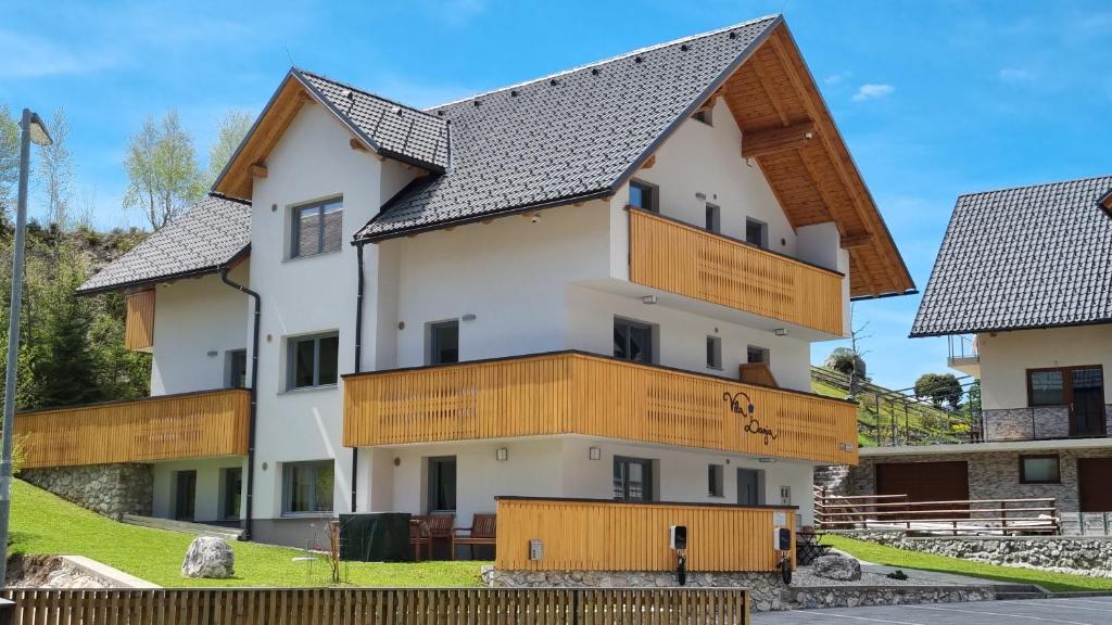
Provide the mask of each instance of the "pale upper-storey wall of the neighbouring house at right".
[{"label": "pale upper-storey wall of the neighbouring house at right", "polygon": [[1026,370],[1101,365],[1104,401],[1112,403],[1112,325],[977,335],[984,409],[1027,406]]}]

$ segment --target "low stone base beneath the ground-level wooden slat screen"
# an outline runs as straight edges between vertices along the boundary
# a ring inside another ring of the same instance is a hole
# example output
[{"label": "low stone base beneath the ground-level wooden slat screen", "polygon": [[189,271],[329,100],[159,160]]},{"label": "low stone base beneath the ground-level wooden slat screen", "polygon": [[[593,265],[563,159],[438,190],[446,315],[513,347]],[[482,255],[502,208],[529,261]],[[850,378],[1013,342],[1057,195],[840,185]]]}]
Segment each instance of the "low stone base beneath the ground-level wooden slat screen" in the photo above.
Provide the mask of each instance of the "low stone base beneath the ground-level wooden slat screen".
[{"label": "low stone base beneath the ground-level wooden slat screen", "polygon": [[[483,567],[483,583],[497,588],[672,588],[676,574],[658,571],[500,571]],[[753,609],[787,609],[787,586],[780,573],[688,573],[687,586],[749,589]]]}]

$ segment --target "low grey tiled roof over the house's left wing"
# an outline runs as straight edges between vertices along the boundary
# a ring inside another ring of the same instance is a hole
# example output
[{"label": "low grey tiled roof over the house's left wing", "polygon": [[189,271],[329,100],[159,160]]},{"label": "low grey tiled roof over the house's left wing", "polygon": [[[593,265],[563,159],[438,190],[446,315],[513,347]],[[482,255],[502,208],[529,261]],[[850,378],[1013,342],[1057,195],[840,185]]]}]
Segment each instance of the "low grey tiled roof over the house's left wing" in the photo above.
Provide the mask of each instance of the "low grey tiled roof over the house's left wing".
[{"label": "low grey tiled roof over the house's left wing", "polygon": [[251,206],[210,196],[113,260],[78,288],[117,289],[216,271],[251,242]]}]

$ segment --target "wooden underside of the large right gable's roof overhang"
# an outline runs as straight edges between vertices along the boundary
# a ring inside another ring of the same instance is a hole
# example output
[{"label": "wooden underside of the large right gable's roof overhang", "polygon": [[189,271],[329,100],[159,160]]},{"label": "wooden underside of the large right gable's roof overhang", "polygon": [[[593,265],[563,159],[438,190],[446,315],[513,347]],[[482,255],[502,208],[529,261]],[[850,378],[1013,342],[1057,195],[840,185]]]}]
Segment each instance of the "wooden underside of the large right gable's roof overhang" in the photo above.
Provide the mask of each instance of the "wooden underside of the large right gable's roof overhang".
[{"label": "wooden underside of the large right gable's roof overhang", "polygon": [[850,252],[851,296],[902,294],[914,282],[822,96],[780,26],[718,91],[792,227],[834,221]]}]

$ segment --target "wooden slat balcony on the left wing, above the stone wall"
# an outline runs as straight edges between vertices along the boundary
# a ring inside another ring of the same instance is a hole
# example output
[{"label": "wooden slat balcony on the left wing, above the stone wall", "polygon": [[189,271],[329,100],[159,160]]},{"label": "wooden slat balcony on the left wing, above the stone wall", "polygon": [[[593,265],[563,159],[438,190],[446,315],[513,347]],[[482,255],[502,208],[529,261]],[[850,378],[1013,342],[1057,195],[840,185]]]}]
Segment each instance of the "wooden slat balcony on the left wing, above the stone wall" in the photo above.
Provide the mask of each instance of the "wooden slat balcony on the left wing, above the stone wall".
[{"label": "wooden slat balcony on the left wing, above the stone wall", "polygon": [[16,415],[26,468],[247,454],[246,389]]}]

